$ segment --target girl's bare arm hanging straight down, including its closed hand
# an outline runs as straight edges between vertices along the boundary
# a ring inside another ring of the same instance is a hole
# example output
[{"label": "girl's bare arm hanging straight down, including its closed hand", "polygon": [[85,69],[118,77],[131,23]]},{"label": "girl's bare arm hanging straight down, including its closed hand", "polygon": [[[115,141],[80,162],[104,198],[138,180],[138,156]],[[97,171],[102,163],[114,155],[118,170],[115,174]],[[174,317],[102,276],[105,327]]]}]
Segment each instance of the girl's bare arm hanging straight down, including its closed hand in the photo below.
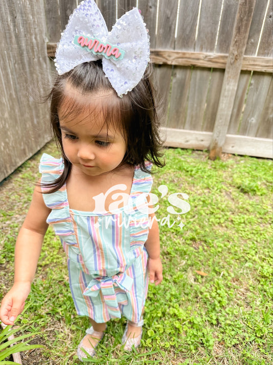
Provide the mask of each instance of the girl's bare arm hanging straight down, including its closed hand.
[{"label": "girl's bare arm hanging straight down, including its closed hand", "polygon": [[149,215],[149,219],[153,224],[149,229],[148,239],[145,242],[145,247],[149,255],[148,270],[151,283],[158,285],[163,279],[162,264],[160,260],[159,229],[154,213]]}]

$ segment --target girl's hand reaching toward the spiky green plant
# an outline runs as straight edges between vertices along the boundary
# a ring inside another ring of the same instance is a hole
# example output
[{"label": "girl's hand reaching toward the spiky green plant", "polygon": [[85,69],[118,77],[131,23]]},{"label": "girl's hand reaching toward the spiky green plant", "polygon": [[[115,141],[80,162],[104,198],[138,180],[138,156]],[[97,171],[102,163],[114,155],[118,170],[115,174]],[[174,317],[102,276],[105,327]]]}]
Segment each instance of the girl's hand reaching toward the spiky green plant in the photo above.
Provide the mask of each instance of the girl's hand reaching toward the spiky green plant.
[{"label": "girl's hand reaching toward the spiky green plant", "polygon": [[30,293],[30,282],[16,282],[2,300],[0,319],[5,324],[14,324],[18,314],[25,306],[25,301]]}]

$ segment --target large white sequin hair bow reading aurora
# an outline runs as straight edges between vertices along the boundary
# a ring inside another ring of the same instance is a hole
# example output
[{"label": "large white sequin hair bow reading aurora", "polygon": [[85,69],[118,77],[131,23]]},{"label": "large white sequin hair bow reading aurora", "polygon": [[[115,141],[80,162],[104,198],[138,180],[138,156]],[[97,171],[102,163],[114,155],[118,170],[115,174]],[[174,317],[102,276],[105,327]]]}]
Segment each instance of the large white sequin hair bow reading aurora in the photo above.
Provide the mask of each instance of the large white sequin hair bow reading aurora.
[{"label": "large white sequin hair bow reading aurora", "polygon": [[141,80],[150,61],[148,31],[137,8],[122,15],[108,31],[94,0],[79,4],[61,33],[55,54],[59,75],[83,62],[102,59],[103,71],[119,97]]}]

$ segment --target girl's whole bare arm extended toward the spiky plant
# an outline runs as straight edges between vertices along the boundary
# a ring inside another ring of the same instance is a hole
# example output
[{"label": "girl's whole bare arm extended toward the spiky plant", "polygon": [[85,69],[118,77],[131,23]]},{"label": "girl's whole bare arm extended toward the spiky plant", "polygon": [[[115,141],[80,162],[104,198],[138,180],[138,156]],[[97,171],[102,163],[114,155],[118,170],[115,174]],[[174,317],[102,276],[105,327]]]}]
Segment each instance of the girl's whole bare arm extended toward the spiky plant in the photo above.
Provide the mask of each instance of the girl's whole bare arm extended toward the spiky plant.
[{"label": "girl's whole bare arm extended toward the spiky plant", "polygon": [[36,187],[29,212],[16,240],[14,284],[3,298],[0,308],[0,319],[5,324],[14,324],[15,318],[24,309],[48,228],[46,219],[50,212],[40,188]]}]

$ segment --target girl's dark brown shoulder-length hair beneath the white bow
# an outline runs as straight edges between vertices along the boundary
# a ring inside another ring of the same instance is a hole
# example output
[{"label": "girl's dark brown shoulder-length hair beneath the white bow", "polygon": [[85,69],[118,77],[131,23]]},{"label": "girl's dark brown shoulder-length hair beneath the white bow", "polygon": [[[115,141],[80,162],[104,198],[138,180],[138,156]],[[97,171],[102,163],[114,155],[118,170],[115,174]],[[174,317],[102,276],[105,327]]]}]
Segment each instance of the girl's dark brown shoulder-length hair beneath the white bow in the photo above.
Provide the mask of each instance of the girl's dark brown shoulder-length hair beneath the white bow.
[{"label": "girl's dark brown shoulder-length hair beneath the white bow", "polygon": [[[106,123],[109,125],[112,121],[118,122],[117,128],[123,131],[124,139],[127,140],[127,151],[121,164],[139,165],[142,171],[145,172],[153,172],[146,168],[145,161],[152,162],[158,167],[164,166],[164,162],[161,160],[162,151],[160,149],[162,142],[159,136],[158,114],[149,68],[150,66],[132,91],[123,95],[122,98],[119,98],[114,92],[114,102],[102,107]],[[58,117],[60,105],[65,100],[64,88],[66,83],[69,83],[71,87],[76,88],[82,94],[113,90],[102,70],[101,60],[82,63],[71,71],[57,76],[48,99],[51,101],[51,127],[57,145],[61,150],[65,167],[60,177],[55,181],[41,184],[41,186],[49,188],[47,193],[54,193],[64,185],[71,170],[71,162],[66,158],[62,147]],[[77,112],[76,110],[73,111],[73,107],[75,105],[68,107],[67,114],[71,115],[71,113]]]}]

